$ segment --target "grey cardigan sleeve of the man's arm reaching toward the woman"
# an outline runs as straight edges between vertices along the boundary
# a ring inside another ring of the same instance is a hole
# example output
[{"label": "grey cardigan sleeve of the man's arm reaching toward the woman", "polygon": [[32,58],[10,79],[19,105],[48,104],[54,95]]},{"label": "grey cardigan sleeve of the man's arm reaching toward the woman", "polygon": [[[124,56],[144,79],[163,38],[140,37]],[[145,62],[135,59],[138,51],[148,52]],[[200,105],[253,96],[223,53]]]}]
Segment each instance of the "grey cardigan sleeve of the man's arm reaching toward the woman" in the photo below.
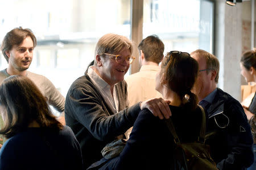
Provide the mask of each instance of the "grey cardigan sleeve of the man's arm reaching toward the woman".
[{"label": "grey cardigan sleeve of the man's arm reaching toward the woman", "polygon": [[72,112],[72,117],[98,140],[108,140],[123,134],[137,118],[141,110],[139,103],[114,114],[109,113],[108,105],[97,95],[96,89],[89,86],[73,89],[66,99],[68,112]]}]

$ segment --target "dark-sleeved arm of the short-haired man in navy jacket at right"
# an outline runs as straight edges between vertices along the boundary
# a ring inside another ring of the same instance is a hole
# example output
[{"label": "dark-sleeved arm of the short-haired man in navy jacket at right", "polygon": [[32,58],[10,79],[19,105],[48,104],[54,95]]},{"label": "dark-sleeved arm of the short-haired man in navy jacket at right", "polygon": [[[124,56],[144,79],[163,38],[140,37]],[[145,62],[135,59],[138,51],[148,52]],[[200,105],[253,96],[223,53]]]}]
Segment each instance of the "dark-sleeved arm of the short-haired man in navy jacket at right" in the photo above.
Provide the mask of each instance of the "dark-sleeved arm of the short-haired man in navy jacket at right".
[{"label": "dark-sleeved arm of the short-haired man in navy jacket at right", "polygon": [[233,103],[225,113],[232,123],[232,127],[228,128],[226,134],[226,139],[229,140],[227,147],[230,147],[230,152],[226,159],[217,163],[217,168],[242,169],[249,167],[253,163],[253,138],[243,108],[240,103]]}]

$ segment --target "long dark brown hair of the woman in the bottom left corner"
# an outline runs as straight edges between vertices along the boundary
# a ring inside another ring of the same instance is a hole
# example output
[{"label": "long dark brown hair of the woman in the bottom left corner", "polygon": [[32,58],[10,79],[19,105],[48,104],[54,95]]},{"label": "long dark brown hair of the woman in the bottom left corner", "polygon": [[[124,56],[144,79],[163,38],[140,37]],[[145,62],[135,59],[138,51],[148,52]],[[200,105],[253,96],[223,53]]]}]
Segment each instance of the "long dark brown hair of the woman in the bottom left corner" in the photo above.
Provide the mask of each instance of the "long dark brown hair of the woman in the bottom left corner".
[{"label": "long dark brown hair of the woman in the bottom left corner", "polygon": [[32,121],[40,127],[63,128],[53,116],[46,98],[27,77],[10,76],[0,86],[1,114],[5,126],[0,134],[10,138],[23,131]]}]

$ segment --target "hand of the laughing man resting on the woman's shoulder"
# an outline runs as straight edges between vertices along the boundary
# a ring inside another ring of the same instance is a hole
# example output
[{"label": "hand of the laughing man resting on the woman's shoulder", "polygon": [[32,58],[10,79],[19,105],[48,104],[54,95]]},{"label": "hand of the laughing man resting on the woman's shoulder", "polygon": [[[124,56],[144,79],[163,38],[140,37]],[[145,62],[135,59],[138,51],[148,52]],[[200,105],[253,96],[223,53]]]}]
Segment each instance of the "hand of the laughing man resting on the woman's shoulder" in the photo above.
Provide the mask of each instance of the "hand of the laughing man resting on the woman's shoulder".
[{"label": "hand of the laughing man resting on the woman's shoulder", "polygon": [[163,98],[152,98],[141,103],[141,109],[147,108],[155,117],[170,118],[171,110],[168,105],[171,101],[164,100]]}]

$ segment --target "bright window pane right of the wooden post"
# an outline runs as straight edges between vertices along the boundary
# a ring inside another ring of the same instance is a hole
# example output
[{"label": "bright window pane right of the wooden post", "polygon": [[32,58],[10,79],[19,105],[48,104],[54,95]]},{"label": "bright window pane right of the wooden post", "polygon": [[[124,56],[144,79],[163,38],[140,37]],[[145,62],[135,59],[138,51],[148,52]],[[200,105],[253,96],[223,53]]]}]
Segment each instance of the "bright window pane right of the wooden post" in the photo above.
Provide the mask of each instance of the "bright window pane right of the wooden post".
[{"label": "bright window pane right of the wooden post", "polygon": [[143,38],[156,34],[164,53],[192,52],[198,48],[212,53],[213,2],[200,0],[144,0]]}]

